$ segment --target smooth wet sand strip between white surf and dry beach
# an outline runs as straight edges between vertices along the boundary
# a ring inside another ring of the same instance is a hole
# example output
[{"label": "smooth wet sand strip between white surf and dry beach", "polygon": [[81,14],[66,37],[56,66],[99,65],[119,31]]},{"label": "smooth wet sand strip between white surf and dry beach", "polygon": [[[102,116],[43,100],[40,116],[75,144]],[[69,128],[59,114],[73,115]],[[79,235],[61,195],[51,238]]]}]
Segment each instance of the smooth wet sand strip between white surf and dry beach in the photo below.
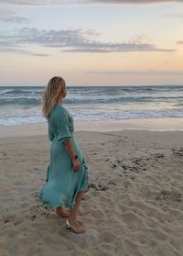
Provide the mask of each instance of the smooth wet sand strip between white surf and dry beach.
[{"label": "smooth wet sand strip between white surf and dry beach", "polygon": [[[110,121],[75,121],[75,131],[115,132],[115,131],[183,131],[183,118],[147,118]],[[48,124],[34,123],[16,126],[1,126],[1,138],[29,137],[48,134]]]}]

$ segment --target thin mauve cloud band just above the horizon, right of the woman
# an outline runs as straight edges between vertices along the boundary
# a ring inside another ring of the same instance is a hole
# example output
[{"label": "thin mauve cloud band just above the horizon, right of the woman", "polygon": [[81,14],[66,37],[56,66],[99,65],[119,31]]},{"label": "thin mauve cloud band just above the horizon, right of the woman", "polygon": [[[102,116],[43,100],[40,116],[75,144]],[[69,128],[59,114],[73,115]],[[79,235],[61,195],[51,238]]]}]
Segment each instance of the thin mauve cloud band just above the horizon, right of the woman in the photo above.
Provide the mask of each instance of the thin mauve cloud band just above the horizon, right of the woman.
[{"label": "thin mauve cloud band just above the horizon, right of the woman", "polygon": [[183,75],[183,71],[156,71],[156,70],[146,70],[146,71],[88,71],[87,73],[95,74],[107,74],[107,75]]}]

